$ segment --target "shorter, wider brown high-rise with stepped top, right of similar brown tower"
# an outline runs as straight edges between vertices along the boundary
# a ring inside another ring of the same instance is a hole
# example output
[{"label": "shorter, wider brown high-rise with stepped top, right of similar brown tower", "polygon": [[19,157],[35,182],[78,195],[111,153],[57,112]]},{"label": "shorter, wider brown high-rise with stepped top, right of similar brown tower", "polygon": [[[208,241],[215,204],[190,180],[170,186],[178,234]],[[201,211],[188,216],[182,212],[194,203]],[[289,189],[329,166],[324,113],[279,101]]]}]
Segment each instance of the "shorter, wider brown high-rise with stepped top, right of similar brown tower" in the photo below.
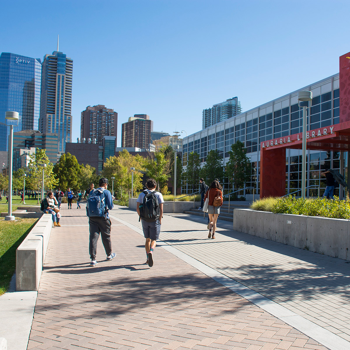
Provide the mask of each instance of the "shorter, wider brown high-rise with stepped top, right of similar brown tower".
[{"label": "shorter, wider brown high-rise with stepped top, right of similar brown tower", "polygon": [[147,114],[134,114],[121,124],[121,147],[148,148],[152,131],[153,121]]}]

